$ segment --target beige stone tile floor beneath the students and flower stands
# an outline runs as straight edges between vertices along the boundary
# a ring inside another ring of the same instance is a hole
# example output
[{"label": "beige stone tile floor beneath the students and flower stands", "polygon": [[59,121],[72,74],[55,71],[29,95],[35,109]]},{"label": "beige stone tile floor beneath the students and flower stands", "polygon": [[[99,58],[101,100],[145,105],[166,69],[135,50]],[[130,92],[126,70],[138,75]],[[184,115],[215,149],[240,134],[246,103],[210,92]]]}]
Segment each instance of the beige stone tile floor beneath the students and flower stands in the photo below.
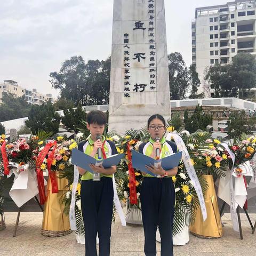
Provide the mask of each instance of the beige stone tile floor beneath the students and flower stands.
[{"label": "beige stone tile floor beneath the students and flower stands", "polygon": [[[84,255],[84,245],[76,243],[75,233],[63,237],[44,237],[41,235],[43,213],[21,212],[17,236],[12,237],[17,212],[6,212],[6,229],[0,231],[0,255],[40,255],[63,256]],[[256,214],[250,214],[254,224]],[[239,239],[231,227],[230,214],[222,217],[225,223],[224,235],[219,239],[202,239],[190,234],[190,241],[185,246],[175,246],[175,256],[255,256],[256,234],[251,234],[249,222],[245,214],[241,214],[243,236]],[[143,228],[122,227],[117,219],[112,227],[111,256],[142,256]],[[160,255],[160,244],[157,243],[157,255]]]}]

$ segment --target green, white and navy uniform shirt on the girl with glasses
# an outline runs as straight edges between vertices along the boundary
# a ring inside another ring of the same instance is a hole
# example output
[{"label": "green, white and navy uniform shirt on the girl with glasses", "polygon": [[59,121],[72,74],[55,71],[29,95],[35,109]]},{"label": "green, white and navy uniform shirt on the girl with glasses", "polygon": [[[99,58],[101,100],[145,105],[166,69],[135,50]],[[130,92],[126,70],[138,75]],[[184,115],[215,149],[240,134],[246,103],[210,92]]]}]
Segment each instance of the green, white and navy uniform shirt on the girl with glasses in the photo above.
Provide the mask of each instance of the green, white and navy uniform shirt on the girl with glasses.
[{"label": "green, white and navy uniform shirt on the girl with glasses", "polygon": [[[148,142],[141,143],[141,145],[139,146],[139,152],[143,155],[150,156],[153,153],[153,143],[155,142],[156,142],[155,140],[150,138]],[[162,140],[159,142],[161,143],[160,158],[164,158],[174,153],[177,153],[177,145],[174,142],[165,140],[165,138],[162,138]],[[143,175],[143,177],[154,177],[154,176],[147,173]],[[171,178],[171,176],[168,176],[166,178]]]}]

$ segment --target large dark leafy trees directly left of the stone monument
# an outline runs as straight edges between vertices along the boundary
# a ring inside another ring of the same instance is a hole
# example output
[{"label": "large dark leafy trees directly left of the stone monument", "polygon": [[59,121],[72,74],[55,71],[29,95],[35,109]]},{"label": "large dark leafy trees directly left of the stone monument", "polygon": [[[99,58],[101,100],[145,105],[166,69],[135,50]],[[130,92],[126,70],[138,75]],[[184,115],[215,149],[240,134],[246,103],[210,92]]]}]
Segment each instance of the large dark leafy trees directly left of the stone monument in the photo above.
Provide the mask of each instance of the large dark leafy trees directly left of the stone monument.
[{"label": "large dark leafy trees directly left of the stone monument", "polygon": [[62,63],[59,73],[50,73],[54,89],[60,90],[60,98],[78,106],[107,104],[110,85],[110,57],[105,61],[89,60],[73,56]]}]

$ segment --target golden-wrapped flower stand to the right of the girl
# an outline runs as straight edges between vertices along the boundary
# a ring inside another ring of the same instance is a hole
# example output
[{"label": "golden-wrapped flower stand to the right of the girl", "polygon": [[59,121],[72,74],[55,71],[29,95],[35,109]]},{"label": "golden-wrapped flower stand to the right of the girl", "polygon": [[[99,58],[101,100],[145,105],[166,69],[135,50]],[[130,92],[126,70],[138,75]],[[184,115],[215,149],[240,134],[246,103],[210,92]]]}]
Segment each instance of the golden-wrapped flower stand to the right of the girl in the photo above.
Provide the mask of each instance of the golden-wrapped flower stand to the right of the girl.
[{"label": "golden-wrapped flower stand to the right of the girl", "polygon": [[203,221],[201,209],[197,208],[194,225],[190,226],[190,233],[201,238],[219,238],[223,233],[213,175],[203,175],[203,178],[209,186],[205,193],[207,219]]}]

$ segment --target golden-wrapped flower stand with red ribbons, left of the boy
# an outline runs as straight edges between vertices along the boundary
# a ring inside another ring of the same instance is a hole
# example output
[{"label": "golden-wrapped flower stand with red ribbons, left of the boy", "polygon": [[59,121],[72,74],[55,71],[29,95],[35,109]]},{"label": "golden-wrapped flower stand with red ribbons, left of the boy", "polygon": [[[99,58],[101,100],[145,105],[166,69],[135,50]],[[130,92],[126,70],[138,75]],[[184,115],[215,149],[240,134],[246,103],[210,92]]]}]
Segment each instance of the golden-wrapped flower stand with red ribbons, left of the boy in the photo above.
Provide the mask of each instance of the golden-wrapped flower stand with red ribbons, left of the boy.
[{"label": "golden-wrapped flower stand with red ribbons, left of the boy", "polygon": [[47,199],[44,205],[44,215],[42,224],[42,235],[50,237],[65,236],[72,232],[69,225],[69,217],[63,213],[64,205],[61,203],[66,195],[68,185],[67,179],[58,178],[58,193],[52,193],[52,182],[49,177],[47,183]]}]

